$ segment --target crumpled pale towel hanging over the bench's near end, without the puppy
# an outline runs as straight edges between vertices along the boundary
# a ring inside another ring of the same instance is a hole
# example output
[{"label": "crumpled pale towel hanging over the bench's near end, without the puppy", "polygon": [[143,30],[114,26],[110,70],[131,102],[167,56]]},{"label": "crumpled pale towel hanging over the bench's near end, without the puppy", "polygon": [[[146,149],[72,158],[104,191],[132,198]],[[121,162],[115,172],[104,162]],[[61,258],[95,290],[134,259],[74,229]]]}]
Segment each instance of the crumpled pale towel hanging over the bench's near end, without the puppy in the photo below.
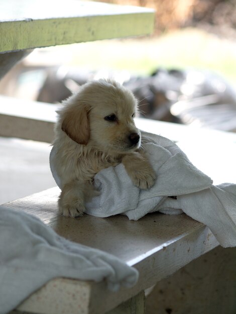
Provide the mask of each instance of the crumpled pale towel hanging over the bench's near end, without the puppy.
[{"label": "crumpled pale towel hanging over the bench's near end, without the puppy", "polygon": [[41,220],[0,207],[0,314],[55,277],[101,281],[116,291],[133,286],[138,271],[115,256],[70,242]]}]

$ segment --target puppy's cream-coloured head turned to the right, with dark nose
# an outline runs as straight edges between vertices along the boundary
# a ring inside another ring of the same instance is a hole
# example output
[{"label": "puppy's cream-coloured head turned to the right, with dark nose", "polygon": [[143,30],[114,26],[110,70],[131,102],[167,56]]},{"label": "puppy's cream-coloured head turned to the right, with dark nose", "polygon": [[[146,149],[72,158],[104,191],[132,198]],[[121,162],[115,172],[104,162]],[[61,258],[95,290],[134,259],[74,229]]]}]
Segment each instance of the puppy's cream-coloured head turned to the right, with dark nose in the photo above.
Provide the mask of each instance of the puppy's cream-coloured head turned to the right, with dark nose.
[{"label": "puppy's cream-coloured head turned to the right, with dark nose", "polygon": [[128,152],[140,146],[136,113],[137,101],[130,91],[117,82],[99,80],[83,85],[59,115],[62,130],[77,143]]}]

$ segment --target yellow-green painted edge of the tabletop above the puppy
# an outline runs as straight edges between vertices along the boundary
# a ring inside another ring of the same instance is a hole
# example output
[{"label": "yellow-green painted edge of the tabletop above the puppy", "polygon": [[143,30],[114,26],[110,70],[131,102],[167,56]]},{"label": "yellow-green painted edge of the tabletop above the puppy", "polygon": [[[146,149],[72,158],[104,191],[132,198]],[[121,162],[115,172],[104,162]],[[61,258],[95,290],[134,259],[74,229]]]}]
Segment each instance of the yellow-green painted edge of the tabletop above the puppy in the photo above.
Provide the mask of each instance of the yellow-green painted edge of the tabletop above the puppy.
[{"label": "yellow-green painted edge of the tabletop above the puppy", "polygon": [[0,23],[0,52],[151,34],[154,12]]}]

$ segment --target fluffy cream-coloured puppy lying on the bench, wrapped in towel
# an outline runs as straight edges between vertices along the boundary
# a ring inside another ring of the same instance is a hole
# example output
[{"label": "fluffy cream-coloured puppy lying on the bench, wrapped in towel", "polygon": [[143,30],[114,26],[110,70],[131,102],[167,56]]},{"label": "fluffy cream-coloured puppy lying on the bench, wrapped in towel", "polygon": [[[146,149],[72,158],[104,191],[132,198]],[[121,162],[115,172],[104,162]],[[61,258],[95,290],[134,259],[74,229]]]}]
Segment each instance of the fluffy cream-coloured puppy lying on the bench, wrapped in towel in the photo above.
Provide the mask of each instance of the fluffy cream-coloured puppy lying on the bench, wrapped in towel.
[{"label": "fluffy cream-coloured puppy lying on the bench, wrapped in towel", "polygon": [[97,195],[95,174],[119,163],[137,187],[153,186],[155,173],[134,122],[137,100],[129,90],[112,80],[91,81],[57,113],[54,166],[62,184],[58,200],[62,215],[82,215],[86,200]]}]

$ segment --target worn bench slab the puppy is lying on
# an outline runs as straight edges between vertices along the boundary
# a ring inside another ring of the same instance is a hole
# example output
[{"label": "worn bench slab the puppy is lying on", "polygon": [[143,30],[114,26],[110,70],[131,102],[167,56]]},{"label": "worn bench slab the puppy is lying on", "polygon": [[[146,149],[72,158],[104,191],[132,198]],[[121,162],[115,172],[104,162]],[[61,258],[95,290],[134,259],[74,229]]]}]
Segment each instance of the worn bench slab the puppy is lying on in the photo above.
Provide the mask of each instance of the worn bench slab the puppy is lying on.
[{"label": "worn bench slab the puppy is lying on", "polygon": [[[60,291],[67,289],[72,293],[76,286],[70,314],[104,313],[218,245],[207,227],[184,214],[154,213],[139,221],[119,215],[105,219],[88,215],[77,219],[58,216],[58,194],[59,189],[53,188],[6,206],[36,215],[65,238],[114,254],[136,267],[140,278],[133,288],[122,288],[117,293],[108,291],[104,282],[57,278],[54,284],[49,282],[24,301],[18,307],[22,311],[62,314],[65,303]],[[82,302],[80,294],[84,293],[84,287],[86,297]]]}]

